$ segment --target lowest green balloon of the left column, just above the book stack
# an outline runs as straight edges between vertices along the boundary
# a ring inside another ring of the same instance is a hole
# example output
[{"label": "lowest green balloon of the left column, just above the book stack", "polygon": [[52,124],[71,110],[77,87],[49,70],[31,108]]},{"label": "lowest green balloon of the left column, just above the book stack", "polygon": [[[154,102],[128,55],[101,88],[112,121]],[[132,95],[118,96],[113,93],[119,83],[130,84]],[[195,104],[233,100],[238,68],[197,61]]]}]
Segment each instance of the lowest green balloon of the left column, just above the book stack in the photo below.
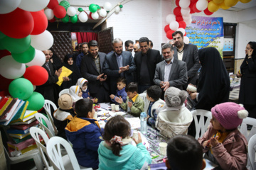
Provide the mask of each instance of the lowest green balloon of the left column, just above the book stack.
[{"label": "lowest green balloon of the left column, just above the book stack", "polygon": [[33,91],[33,94],[26,100],[28,101],[28,111],[38,111],[43,108],[44,98],[41,94]]}]

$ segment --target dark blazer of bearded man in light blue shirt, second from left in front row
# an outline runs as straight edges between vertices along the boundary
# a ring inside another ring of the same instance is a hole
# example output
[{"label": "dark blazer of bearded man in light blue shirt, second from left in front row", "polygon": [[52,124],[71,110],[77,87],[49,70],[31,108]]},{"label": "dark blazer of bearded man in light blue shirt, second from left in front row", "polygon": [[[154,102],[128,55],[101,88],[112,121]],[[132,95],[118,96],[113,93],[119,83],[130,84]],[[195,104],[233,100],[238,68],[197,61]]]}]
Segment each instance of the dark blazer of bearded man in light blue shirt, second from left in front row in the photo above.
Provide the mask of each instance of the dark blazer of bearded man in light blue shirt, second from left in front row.
[{"label": "dark blazer of bearded man in light blue shirt, second from left in front row", "polygon": [[[123,72],[124,78],[127,80],[127,84],[134,81],[133,72],[135,72],[136,67],[134,63],[134,58],[132,57],[131,52],[123,51],[122,52],[122,64],[123,66],[129,65],[129,70]],[[103,72],[107,74],[107,77],[110,81],[110,93],[115,94],[117,91],[117,79],[120,77],[119,67],[117,64],[117,57],[115,52],[108,54],[105,59],[103,66]]]}]

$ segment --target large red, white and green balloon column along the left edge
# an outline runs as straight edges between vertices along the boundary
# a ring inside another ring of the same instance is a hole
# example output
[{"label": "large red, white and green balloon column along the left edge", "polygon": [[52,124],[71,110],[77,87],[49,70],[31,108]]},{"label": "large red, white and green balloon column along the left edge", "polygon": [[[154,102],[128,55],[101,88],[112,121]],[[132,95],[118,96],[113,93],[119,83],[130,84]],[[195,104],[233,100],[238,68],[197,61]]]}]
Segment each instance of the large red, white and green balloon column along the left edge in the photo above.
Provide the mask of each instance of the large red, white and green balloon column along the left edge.
[{"label": "large red, white and green balloon column along the left edge", "polygon": [[48,4],[49,0],[0,1],[0,89],[29,101],[28,110],[37,111],[44,103],[34,89],[48,80],[42,67],[46,57],[41,51],[53,45],[43,11]]}]

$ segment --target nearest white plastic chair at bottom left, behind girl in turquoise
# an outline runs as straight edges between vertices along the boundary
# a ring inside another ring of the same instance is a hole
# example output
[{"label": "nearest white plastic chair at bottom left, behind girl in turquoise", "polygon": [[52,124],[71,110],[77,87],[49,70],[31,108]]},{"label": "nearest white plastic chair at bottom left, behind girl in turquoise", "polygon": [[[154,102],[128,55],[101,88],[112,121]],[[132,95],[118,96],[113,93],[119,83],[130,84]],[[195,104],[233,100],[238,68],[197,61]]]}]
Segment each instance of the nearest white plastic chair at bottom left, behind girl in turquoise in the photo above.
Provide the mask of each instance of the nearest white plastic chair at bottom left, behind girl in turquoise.
[{"label": "nearest white plastic chair at bottom left, behind girl in turquoise", "polygon": [[[63,162],[63,159],[60,153],[60,149],[61,149],[60,145],[62,145],[68,153],[69,164],[66,164],[67,161]],[[66,140],[64,140],[61,137],[50,138],[50,140],[48,141],[48,145],[46,146],[46,150],[47,150],[48,157],[50,159],[50,163],[53,165],[54,169],[63,170],[63,169],[70,169],[71,167],[73,167],[73,169],[75,170],[77,169],[92,170],[92,168],[85,168],[78,164],[78,160],[75,157],[75,153],[72,147]],[[71,167],[68,168],[67,167],[68,165]]]}]

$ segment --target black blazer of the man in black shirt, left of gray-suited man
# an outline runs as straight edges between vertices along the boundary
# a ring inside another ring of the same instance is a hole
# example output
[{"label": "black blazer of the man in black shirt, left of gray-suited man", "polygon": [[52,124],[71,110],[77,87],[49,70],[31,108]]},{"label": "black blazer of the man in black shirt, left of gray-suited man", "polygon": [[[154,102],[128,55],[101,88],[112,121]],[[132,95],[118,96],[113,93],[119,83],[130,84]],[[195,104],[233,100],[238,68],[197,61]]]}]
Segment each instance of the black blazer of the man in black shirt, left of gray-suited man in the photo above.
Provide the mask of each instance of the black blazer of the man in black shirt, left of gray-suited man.
[{"label": "black blazer of the man in black shirt, left of gray-suited man", "polygon": [[[150,82],[151,85],[154,85],[154,72],[156,69],[156,64],[161,62],[162,58],[160,55],[159,50],[152,50],[149,49],[148,53],[147,53],[147,60],[146,60],[146,65],[149,69],[149,78],[150,78]],[[137,52],[134,56],[134,62],[136,65],[136,77],[135,77],[135,81],[137,81],[139,83],[140,80],[140,69],[141,69],[141,65],[142,65],[142,52]]]}]

